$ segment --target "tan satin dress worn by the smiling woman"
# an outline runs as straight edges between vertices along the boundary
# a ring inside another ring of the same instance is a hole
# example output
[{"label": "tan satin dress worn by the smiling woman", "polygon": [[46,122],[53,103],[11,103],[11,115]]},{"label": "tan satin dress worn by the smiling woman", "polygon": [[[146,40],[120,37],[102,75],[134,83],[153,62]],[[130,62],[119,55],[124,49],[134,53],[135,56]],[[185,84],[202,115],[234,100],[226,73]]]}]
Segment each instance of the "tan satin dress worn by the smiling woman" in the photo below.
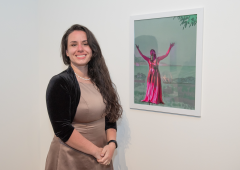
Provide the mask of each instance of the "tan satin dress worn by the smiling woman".
[{"label": "tan satin dress worn by the smiling woman", "polygon": [[[98,147],[107,144],[105,133],[105,104],[93,84],[79,82],[81,97],[72,125],[86,139]],[[81,141],[79,141],[81,142]],[[113,170],[88,154],[71,148],[54,136],[48,152],[45,170]]]}]

